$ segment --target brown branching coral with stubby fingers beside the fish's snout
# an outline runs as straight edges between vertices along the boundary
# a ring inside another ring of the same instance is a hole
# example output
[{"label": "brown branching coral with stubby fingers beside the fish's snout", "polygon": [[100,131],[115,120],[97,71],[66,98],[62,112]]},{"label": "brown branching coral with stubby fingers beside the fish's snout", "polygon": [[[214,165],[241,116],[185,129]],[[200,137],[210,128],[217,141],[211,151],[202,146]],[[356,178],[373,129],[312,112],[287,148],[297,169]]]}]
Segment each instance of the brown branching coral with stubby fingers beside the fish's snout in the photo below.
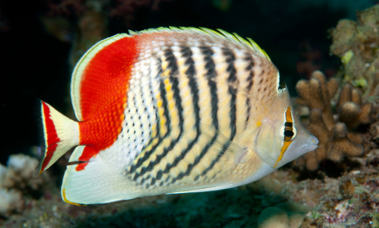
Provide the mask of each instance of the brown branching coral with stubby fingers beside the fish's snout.
[{"label": "brown branching coral with stubby fingers beside the fish's snout", "polygon": [[337,89],[338,82],[326,81],[319,71],[312,74],[310,81],[299,81],[296,85],[299,98],[295,102],[310,107],[307,129],[319,139],[319,147],[295,160],[295,166],[316,170],[324,159],[338,162],[344,156],[359,156],[364,152],[361,135],[349,133],[348,129],[371,121],[371,104],[361,104],[359,90],[345,85],[336,105],[339,115],[333,116],[331,100]]}]

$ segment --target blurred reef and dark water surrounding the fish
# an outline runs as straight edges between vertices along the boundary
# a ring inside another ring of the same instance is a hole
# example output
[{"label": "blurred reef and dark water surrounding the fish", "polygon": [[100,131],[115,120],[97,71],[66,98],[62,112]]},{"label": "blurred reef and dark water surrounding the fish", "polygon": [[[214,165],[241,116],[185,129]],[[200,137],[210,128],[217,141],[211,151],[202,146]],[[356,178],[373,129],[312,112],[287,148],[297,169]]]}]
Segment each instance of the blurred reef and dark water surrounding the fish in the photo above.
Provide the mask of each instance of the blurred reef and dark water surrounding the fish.
[{"label": "blurred reef and dark water surrounding the fish", "polygon": [[[72,119],[77,60],[154,27],[251,37],[319,148],[249,185],[106,206],[60,198],[69,153],[38,177],[33,101]],[[374,0],[0,0],[0,227],[379,227],[379,5]]]}]

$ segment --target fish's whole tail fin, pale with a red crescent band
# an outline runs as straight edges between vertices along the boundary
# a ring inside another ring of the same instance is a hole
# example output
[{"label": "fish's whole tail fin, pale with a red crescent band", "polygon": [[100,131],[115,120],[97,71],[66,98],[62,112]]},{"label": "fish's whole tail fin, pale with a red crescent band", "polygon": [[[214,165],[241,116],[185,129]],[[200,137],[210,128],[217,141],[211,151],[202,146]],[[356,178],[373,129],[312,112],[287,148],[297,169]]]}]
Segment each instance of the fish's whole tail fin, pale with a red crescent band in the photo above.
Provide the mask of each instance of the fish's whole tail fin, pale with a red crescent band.
[{"label": "fish's whole tail fin, pale with a red crescent band", "polygon": [[68,119],[41,100],[38,100],[36,107],[42,154],[34,175],[39,175],[69,149],[79,145],[79,123]]}]

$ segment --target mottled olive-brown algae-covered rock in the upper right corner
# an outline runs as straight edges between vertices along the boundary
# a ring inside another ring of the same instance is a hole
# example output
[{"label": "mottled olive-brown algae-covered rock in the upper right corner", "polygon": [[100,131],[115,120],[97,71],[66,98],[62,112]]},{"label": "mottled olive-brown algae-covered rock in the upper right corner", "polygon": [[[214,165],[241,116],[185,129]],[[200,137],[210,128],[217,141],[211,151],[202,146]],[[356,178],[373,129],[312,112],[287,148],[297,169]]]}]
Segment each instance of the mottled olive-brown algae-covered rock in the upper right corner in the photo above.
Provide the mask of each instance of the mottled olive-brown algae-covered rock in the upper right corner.
[{"label": "mottled olive-brown algae-covered rock in the upper right corner", "polygon": [[340,20],[330,31],[331,53],[341,58],[339,77],[363,90],[363,100],[379,95],[379,5],[357,13],[357,22]]}]

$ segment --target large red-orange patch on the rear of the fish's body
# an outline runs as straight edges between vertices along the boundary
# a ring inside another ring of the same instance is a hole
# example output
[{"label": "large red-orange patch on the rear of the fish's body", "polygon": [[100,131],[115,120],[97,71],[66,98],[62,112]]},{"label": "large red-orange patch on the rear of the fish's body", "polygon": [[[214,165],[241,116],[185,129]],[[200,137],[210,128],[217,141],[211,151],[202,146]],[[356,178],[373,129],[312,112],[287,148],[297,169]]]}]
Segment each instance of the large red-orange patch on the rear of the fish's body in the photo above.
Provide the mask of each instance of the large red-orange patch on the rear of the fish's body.
[{"label": "large red-orange patch on the rear of the fish's body", "polygon": [[[79,144],[87,147],[79,161],[88,161],[117,140],[131,69],[138,54],[135,37],[124,37],[105,46],[88,62],[81,76],[80,107],[84,121],[79,123]],[[83,170],[86,164],[79,164],[77,170]]]}]

